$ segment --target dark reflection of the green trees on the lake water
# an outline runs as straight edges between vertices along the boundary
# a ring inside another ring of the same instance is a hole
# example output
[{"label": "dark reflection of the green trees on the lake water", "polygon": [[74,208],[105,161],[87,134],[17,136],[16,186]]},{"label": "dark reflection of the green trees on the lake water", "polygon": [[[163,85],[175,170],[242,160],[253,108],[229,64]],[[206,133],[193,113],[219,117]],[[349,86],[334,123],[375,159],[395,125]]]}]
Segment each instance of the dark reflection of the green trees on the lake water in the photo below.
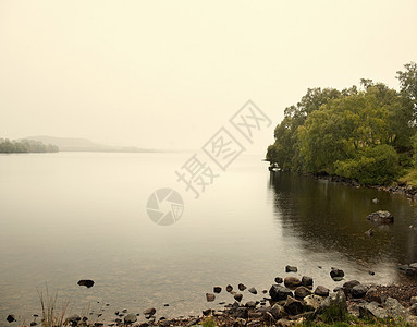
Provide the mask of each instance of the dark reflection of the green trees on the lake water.
[{"label": "dark reflection of the green trees on the lake water", "polygon": [[[401,195],[355,189],[327,180],[271,172],[277,220],[310,252],[339,252],[364,264],[417,262],[416,207]],[[378,204],[372,198],[379,199]],[[373,226],[366,216],[389,210],[392,226]],[[375,229],[373,237],[365,231]]]}]

